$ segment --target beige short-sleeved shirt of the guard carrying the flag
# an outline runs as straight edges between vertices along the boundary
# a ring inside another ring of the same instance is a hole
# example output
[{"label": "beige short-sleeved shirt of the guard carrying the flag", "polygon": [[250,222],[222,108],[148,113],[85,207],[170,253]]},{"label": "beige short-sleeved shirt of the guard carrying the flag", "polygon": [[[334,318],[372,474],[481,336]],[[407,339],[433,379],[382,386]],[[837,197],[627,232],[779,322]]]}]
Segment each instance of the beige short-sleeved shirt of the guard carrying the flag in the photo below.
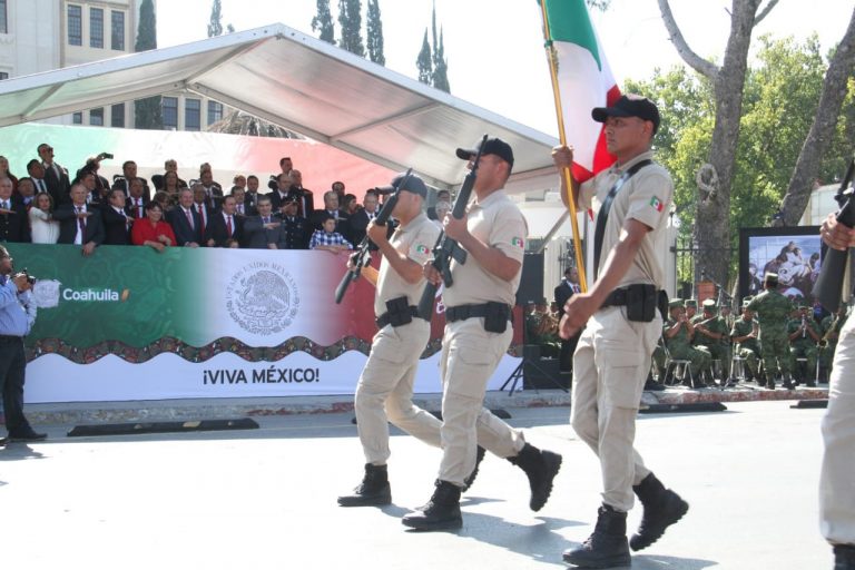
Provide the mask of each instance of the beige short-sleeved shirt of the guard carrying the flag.
[{"label": "beige short-sleeved shirt of the guard carrying the flag", "polygon": [[[643,153],[620,167],[612,166],[581,186],[580,202],[586,208],[593,208],[594,219],[602,202],[609,195],[612,186],[632,165],[640,160],[652,159],[653,154]],[[633,283],[651,283],[665,288],[665,268],[661,254],[665,248],[668,215],[674,199],[674,181],[662,166],[653,163],[638,170],[618,190],[611,203],[606,232],[602,238],[600,268],[606,264],[609,252],[618,244],[623,223],[637,219],[651,228],[647,233],[632,265],[623,275],[619,287]]]}]

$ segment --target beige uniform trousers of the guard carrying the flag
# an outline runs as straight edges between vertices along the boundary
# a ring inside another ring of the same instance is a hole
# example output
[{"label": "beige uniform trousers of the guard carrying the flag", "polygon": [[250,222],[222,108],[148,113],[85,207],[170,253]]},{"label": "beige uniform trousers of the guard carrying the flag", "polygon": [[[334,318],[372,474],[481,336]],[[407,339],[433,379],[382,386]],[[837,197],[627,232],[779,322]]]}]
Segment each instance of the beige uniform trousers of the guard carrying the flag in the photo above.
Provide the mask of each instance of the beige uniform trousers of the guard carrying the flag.
[{"label": "beige uniform trousers of the guard carrying the flag", "polygon": [[570,422],[600,459],[602,502],[632,508],[632,485],[650,471],[632,446],[636,415],[650,358],[662,331],[657,312],[650,323],[627,321],[623,307],[598,311],[588,321],[573,354]]}]

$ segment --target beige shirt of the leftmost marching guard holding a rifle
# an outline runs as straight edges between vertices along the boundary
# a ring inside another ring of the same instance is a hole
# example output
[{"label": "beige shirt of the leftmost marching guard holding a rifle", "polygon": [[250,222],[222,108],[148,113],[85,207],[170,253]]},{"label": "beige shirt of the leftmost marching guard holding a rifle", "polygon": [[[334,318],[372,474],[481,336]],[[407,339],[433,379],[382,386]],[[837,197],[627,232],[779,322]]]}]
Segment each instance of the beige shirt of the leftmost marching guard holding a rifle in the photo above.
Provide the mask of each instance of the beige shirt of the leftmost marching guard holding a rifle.
[{"label": "beige shirt of the leftmost marching guard holding a rifle", "polygon": [[[440,228],[431,222],[424,213],[413,218],[406,227],[399,227],[389,240],[397,252],[417,263],[424,263],[431,257],[431,249],[440,236]],[[386,301],[406,296],[409,305],[417,305],[424,288],[424,279],[415,285],[406,283],[399,273],[392,268],[389,261],[383,257],[380,262],[380,275],[377,276],[377,295],[374,297],[374,313],[376,316],[386,312]]]}]

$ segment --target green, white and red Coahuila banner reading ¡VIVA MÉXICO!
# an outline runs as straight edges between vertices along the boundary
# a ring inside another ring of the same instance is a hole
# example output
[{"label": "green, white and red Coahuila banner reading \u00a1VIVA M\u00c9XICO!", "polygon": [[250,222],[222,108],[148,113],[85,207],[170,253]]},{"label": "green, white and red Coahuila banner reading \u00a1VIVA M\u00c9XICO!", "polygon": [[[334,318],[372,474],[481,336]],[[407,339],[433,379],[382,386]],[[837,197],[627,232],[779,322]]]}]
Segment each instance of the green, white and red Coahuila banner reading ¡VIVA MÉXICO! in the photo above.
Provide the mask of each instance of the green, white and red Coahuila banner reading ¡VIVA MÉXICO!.
[{"label": "green, white and red Coahuila banner reading \u00a1VIVA M\u00c9XICO!", "polygon": [[[376,332],[365,279],[334,302],[344,254],[7,245],[38,279],[29,403],[352,394]],[[416,392],[441,391],[441,304],[431,326]]]}]

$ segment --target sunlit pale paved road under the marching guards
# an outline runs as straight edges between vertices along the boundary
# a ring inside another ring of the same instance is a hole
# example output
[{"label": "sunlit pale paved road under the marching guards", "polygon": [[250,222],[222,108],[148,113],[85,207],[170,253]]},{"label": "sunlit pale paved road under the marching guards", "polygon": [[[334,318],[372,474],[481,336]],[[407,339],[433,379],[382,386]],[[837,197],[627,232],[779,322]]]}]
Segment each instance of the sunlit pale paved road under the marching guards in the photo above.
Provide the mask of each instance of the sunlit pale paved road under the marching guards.
[{"label": "sunlit pale paved road under the marching guards", "polygon": [[[827,569],[817,530],[822,410],[789,402],[647,415],[638,445],[691,504],[633,558],[636,570]],[[528,509],[522,472],[488,456],[453,533],[405,530],[432,491],[439,451],[393,439],[394,504],[342,509],[363,458],[351,414],[258,419],[242,432],[66,438],[0,450],[0,560],[9,569],[539,569],[591,532],[599,472],[568,409],[511,410],[564,463]],[[43,426],[40,426],[43,428]],[[635,528],[640,509],[629,524]]]}]

